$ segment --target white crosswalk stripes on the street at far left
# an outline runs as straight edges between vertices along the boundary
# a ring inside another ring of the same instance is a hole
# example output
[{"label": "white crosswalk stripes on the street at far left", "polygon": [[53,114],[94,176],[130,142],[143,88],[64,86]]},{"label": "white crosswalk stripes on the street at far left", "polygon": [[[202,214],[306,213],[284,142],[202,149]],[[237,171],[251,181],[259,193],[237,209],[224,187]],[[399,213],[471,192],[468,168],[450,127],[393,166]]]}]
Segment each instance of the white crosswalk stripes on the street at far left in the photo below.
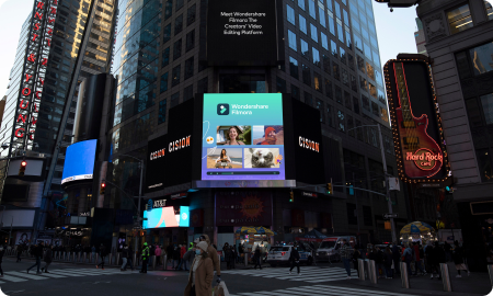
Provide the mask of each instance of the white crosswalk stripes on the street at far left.
[{"label": "white crosswalk stripes on the street at far left", "polygon": [[26,281],[39,281],[49,278],[65,278],[71,276],[92,276],[92,275],[112,275],[112,274],[131,274],[130,272],[121,272],[119,270],[92,270],[92,269],[65,269],[65,270],[49,270],[49,273],[36,274],[36,270],[26,271],[9,271],[4,272],[3,277],[0,277],[0,284],[8,282],[19,283]]}]

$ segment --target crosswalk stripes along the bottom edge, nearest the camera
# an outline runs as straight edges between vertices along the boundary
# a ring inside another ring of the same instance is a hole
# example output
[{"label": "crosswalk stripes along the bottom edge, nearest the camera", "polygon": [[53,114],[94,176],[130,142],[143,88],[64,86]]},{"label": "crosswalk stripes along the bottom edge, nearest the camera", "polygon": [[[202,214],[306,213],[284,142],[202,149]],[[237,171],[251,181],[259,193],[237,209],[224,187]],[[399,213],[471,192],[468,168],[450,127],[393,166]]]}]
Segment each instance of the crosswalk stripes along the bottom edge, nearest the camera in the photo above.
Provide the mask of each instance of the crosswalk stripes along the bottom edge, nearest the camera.
[{"label": "crosswalk stripes along the bottom edge, nearest the camera", "polygon": [[328,285],[314,285],[314,286],[301,286],[301,287],[290,287],[285,289],[276,291],[262,291],[254,293],[237,293],[230,294],[230,296],[340,296],[340,295],[354,295],[354,296],[416,296],[411,294],[402,294],[394,292],[383,292],[375,289],[362,289],[362,288],[349,288],[340,286],[328,286]]}]

